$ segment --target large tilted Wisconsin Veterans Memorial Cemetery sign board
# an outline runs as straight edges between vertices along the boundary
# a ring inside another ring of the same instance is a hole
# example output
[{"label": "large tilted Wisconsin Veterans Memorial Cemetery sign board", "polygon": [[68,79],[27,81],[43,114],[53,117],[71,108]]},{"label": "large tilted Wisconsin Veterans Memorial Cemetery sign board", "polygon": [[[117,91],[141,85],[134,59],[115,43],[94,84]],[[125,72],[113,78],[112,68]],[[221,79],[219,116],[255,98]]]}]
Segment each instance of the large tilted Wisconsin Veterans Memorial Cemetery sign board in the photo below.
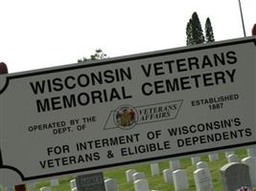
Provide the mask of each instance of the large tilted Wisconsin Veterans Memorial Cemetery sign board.
[{"label": "large tilted Wisconsin Veterans Memorial Cemetery sign board", "polygon": [[255,144],[255,46],[248,37],[1,75],[0,182]]}]

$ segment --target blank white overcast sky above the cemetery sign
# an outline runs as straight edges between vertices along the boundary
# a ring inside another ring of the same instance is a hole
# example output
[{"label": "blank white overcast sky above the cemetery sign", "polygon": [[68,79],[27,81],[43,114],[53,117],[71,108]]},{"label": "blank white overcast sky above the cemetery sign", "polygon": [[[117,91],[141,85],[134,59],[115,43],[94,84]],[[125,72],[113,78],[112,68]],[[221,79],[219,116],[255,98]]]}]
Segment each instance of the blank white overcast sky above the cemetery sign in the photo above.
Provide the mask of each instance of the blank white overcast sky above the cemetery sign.
[{"label": "blank white overcast sky above the cemetery sign", "polygon": [[[246,35],[256,1],[241,0]],[[186,46],[194,11],[216,41],[244,37],[238,0],[0,0],[0,62],[9,73]]]}]

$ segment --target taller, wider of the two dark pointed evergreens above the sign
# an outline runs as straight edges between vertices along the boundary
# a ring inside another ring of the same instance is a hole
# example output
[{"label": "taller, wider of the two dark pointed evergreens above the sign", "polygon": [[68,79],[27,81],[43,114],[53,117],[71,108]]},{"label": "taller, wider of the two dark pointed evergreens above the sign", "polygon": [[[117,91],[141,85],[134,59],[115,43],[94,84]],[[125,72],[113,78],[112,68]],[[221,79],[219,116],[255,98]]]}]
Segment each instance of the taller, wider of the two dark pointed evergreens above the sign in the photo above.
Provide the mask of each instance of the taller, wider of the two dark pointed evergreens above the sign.
[{"label": "taller, wider of the two dark pointed evergreens above the sign", "polygon": [[201,29],[198,13],[196,11],[192,14],[192,17],[187,24],[186,33],[187,33],[187,45],[204,43],[204,35]]}]

